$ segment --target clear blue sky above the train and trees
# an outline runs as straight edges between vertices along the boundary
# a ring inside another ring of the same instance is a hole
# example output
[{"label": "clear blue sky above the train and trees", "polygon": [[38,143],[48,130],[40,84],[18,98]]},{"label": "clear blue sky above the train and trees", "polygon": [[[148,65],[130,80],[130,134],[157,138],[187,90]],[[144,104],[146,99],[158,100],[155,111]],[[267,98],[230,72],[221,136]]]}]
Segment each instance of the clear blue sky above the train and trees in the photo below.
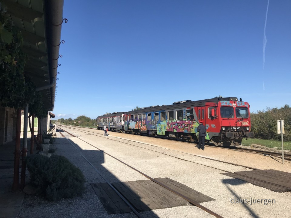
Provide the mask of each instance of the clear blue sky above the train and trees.
[{"label": "clear blue sky above the train and trees", "polygon": [[53,113],[95,119],[219,95],[251,112],[291,105],[291,1],[270,0],[266,20],[267,5],[65,0]]}]

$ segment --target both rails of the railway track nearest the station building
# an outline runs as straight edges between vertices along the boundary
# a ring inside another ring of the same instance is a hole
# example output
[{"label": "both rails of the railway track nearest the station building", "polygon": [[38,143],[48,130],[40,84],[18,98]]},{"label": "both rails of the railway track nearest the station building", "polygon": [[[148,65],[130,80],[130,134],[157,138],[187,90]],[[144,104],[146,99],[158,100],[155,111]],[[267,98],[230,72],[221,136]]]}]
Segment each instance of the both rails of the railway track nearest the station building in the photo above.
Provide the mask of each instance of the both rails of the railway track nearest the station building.
[{"label": "both rails of the railway track nearest the station building", "polygon": [[[76,137],[75,135],[73,135],[73,134],[71,134],[71,133],[69,133],[68,131],[66,131],[66,130],[64,130],[64,129],[62,129],[62,128],[60,128],[60,127],[58,127],[59,129],[61,129],[62,131],[64,131],[64,132],[66,132],[67,134],[69,134],[69,135],[71,135],[72,137]],[[68,127],[67,127],[68,128]],[[71,128],[71,129],[75,129],[75,128]],[[60,132],[60,131],[59,131]],[[61,132],[60,132],[61,133]],[[62,135],[62,137],[65,137],[62,133],[61,133],[61,135]],[[94,134],[92,134],[92,135],[94,135]],[[82,139],[80,139],[79,137],[77,137],[79,140],[82,140]],[[68,140],[68,139],[67,139]],[[69,140],[68,140],[69,141]],[[135,169],[134,167],[132,167],[132,166],[130,166],[129,164],[127,164],[127,163],[125,163],[125,162],[123,162],[122,160],[119,160],[118,158],[116,158],[116,157],[114,157],[114,156],[112,156],[111,154],[108,154],[108,153],[106,153],[105,151],[103,151],[103,150],[101,150],[101,149],[99,149],[98,147],[96,147],[96,146],[94,146],[94,145],[92,145],[92,144],[90,144],[90,143],[88,143],[88,142],[86,142],[85,140],[82,140],[83,142],[85,142],[85,143],[87,143],[87,144],[89,144],[89,145],[91,145],[92,147],[95,147],[96,149],[98,149],[99,151],[101,151],[101,152],[103,152],[104,154],[107,154],[107,155],[109,155],[110,157],[112,157],[112,158],[114,158],[115,160],[118,160],[119,162],[121,162],[121,163],[123,163],[123,164],[125,164],[127,167],[130,167],[131,169],[133,169],[133,170],[135,170],[136,172],[138,172],[138,173],[140,173],[140,174],[142,174],[143,176],[145,176],[146,178],[148,178],[149,180],[151,180],[152,182],[154,182],[154,183],[157,183],[157,184],[159,184],[160,186],[162,186],[162,187],[164,187],[164,188],[166,188],[167,190],[169,190],[169,191],[171,191],[172,193],[175,193],[176,195],[178,195],[178,196],[180,196],[180,197],[182,197],[183,199],[185,199],[185,200],[187,200],[189,203],[191,203],[192,205],[195,205],[195,206],[197,206],[197,207],[199,207],[200,209],[202,209],[202,210],[204,210],[204,211],[206,211],[207,213],[209,213],[209,214],[211,214],[211,215],[213,215],[213,216],[215,216],[215,217],[218,217],[218,218],[223,218],[222,216],[220,216],[219,214],[217,214],[217,213],[215,213],[215,212],[213,212],[212,210],[209,210],[208,208],[206,208],[206,207],[204,207],[204,206],[202,206],[202,205],[200,205],[196,200],[193,200],[193,199],[189,199],[188,197],[186,197],[185,195],[182,195],[181,193],[179,193],[179,191],[177,191],[177,190],[173,190],[172,188],[170,188],[170,187],[168,187],[167,185],[165,185],[165,184],[163,184],[163,183],[161,183],[161,182],[159,182],[158,180],[156,180],[156,179],[154,179],[154,178],[152,178],[152,177],[150,177],[150,176],[148,176],[147,174],[145,174],[145,173],[143,173],[143,172],[141,172],[141,171],[139,171],[139,170],[137,170],[137,169]],[[69,143],[70,144],[72,144],[70,141],[69,141]],[[73,144],[72,144],[72,146],[73,147],[75,147]],[[76,150],[78,150],[76,147],[75,147],[75,149]],[[90,163],[89,162],[89,160],[87,160],[87,158],[78,150],[78,152],[85,158],[85,160],[96,170],[96,172],[97,173],[99,173],[99,171],[92,165],[92,163]],[[172,156],[173,157],[173,156]],[[213,168],[213,167],[212,167]],[[225,171],[225,172],[228,172],[228,171],[226,171],[226,170],[223,170],[223,171]],[[122,194],[121,193],[119,193],[119,191],[118,190],[116,190],[112,185],[111,185],[111,183],[109,183],[109,181],[108,180],[106,180],[103,176],[102,176],[102,174],[101,173],[99,173],[100,174],[100,176],[106,181],[106,183],[108,183],[109,184],[109,186],[119,195],[119,197],[121,197],[122,198],[122,200],[124,200],[125,201],[125,203],[132,209],[132,211],[139,217],[139,218],[142,218],[142,216],[134,209],[134,207],[122,196]]]}]

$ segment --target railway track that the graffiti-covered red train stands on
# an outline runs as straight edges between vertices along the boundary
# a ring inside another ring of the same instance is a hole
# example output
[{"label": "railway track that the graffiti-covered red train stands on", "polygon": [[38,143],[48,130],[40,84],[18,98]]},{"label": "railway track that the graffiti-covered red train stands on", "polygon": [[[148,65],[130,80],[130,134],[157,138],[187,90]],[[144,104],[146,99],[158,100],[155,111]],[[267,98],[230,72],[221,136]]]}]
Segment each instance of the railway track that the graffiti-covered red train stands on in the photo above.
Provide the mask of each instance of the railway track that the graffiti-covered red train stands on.
[{"label": "railway track that the graffiti-covered red train stands on", "polygon": [[[69,128],[68,126],[66,126],[66,127]],[[72,128],[72,127],[70,127],[70,128]],[[81,128],[93,129],[93,128],[89,128],[89,127],[81,127]],[[73,128],[73,129],[77,129],[77,128]],[[95,132],[93,132],[93,133],[95,133]],[[159,137],[159,136],[149,136],[149,137],[165,139],[164,137]],[[180,139],[173,139],[173,138],[167,138],[167,140],[186,142],[186,141],[183,141],[183,140],[180,140]],[[192,142],[186,142],[186,143],[192,143]],[[219,148],[219,149],[232,149],[232,150],[236,150],[236,151],[239,151],[239,152],[258,153],[258,154],[269,155],[269,156],[273,156],[273,157],[282,157],[282,153],[280,153],[280,152],[272,152],[272,151],[267,151],[267,150],[257,150],[257,149],[250,149],[250,148],[241,148],[241,147],[216,147],[216,146],[213,146],[213,145],[210,145],[210,144],[205,145],[205,146],[206,147]],[[284,153],[284,160],[291,161],[291,154]]]}]

